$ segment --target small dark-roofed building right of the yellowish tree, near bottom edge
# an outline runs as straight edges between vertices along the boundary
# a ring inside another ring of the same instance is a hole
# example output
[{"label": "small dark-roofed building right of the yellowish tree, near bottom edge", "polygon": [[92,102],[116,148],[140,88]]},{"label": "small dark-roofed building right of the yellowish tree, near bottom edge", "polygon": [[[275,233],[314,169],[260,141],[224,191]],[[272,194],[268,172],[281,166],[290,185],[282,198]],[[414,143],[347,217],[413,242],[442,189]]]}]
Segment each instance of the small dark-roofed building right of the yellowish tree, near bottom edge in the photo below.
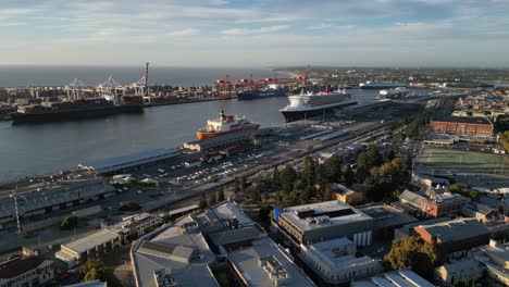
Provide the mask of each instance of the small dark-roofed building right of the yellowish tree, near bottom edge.
[{"label": "small dark-roofed building right of the yellowish tree, near bottom edge", "polygon": [[473,283],[483,276],[484,269],[479,261],[473,259],[462,259],[445,263],[435,269],[435,280],[440,286],[456,286],[458,283],[464,283],[465,286],[472,286]]}]

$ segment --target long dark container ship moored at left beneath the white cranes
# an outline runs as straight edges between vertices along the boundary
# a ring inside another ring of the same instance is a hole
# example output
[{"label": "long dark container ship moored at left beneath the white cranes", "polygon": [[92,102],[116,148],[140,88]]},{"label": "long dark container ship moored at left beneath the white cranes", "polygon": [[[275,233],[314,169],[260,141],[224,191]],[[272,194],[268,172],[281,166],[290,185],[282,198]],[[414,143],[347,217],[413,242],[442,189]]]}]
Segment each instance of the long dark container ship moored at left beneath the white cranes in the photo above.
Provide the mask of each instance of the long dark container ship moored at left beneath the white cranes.
[{"label": "long dark container ship moored at left beneath the white cranes", "polygon": [[[128,100],[127,100],[128,99]],[[142,98],[125,97],[125,102],[115,104],[104,98],[88,98],[72,101],[42,102],[22,105],[11,113],[14,123],[62,122],[94,118],[120,113],[140,113],[144,111]]]}]

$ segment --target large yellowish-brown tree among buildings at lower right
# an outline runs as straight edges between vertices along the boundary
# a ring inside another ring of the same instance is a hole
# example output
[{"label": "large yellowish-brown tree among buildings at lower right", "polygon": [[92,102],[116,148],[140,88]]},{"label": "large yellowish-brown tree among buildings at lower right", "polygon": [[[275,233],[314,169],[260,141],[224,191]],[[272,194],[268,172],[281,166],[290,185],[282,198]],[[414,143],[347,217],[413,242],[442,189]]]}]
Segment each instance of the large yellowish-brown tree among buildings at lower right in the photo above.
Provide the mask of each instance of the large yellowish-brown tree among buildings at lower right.
[{"label": "large yellowish-brown tree among buildings at lower right", "polygon": [[444,260],[444,252],[438,245],[411,236],[394,240],[384,260],[394,270],[410,267],[421,276],[432,277],[434,267]]}]

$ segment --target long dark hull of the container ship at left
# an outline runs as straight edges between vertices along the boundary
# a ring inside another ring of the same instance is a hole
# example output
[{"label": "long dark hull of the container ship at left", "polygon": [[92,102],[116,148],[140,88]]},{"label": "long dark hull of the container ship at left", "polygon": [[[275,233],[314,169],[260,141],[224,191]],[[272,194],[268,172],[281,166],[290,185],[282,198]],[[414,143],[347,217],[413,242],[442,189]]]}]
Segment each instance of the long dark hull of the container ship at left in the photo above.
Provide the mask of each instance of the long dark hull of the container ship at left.
[{"label": "long dark hull of the container ship at left", "polygon": [[102,107],[98,109],[82,109],[46,113],[11,113],[14,123],[64,122],[102,117],[120,113],[141,113],[144,107],[138,104]]}]

